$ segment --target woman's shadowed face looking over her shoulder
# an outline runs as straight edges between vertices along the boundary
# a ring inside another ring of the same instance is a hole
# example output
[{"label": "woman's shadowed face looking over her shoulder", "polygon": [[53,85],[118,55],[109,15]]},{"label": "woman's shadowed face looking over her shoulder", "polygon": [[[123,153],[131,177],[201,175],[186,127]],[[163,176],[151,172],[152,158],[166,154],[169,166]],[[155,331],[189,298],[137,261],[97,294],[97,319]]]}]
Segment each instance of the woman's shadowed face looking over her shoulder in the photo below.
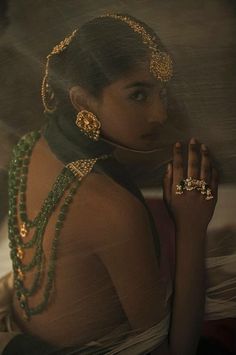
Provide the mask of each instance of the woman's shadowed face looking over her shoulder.
[{"label": "woman's shadowed face looking over her shoulder", "polygon": [[166,85],[149,72],[149,65],[103,89],[93,113],[104,138],[138,150],[157,148],[167,119]]}]

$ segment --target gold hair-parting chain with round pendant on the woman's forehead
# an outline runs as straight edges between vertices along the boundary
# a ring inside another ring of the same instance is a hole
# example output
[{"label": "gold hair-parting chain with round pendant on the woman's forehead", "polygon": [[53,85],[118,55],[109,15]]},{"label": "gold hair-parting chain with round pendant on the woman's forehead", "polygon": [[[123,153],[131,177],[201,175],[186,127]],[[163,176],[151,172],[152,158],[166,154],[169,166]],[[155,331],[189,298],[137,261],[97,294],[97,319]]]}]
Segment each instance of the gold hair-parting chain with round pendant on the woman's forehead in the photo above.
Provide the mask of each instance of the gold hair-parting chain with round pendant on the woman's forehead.
[{"label": "gold hair-parting chain with round pendant on the woman's forehead", "polygon": [[169,81],[173,75],[173,63],[170,55],[166,52],[160,51],[156,43],[156,38],[152,37],[139,23],[131,20],[127,16],[106,14],[101,17],[111,17],[116,20],[125,22],[134,32],[137,32],[144,44],[151,50],[150,72],[160,81]]}]

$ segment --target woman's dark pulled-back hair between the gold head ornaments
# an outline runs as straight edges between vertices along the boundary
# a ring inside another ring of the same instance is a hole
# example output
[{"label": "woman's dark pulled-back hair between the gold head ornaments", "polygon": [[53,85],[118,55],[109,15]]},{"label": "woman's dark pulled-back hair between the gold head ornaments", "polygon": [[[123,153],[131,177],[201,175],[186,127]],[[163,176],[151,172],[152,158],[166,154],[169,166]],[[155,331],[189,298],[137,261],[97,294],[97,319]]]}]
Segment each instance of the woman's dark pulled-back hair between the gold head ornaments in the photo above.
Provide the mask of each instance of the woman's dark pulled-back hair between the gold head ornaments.
[{"label": "woman's dark pulled-back hair between the gold head ornaments", "polygon": [[[155,37],[155,32],[143,22],[129,16]],[[58,110],[73,109],[69,100],[70,87],[80,85],[99,97],[102,89],[143,63],[150,49],[141,36],[128,24],[111,17],[98,17],[85,23],[73,37],[69,46],[49,63],[49,84],[58,101]]]}]

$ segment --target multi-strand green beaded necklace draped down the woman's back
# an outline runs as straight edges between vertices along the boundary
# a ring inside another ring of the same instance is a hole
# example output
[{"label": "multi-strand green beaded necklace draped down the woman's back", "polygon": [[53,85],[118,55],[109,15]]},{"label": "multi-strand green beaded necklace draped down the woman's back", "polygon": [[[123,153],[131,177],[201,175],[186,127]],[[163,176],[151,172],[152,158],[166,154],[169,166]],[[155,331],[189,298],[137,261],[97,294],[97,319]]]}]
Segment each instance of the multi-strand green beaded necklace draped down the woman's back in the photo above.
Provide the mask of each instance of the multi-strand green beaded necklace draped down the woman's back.
[{"label": "multi-strand green beaded necklace draped down the woman's back", "polygon": [[[21,138],[13,150],[13,158],[9,166],[8,229],[9,246],[11,249],[10,256],[13,264],[16,296],[26,320],[29,320],[33,315],[42,313],[49,304],[55,278],[60,233],[69,206],[80,186],[82,178],[93,169],[97,160],[103,160],[111,156],[104,154],[98,158],[83,159],[67,164],[58,175],[39,213],[33,220],[30,220],[26,213],[27,173],[31,153],[40,136],[40,132],[31,132]],[[49,263],[46,270],[43,236],[48,221],[64,194],[65,198],[57,217]],[[30,241],[25,242],[24,238],[28,235],[30,229],[34,230],[33,236]],[[23,262],[24,253],[29,248],[35,248],[35,253],[31,261],[26,264]],[[24,279],[25,274],[29,271],[34,271],[34,278],[31,286],[26,288]],[[30,307],[29,298],[40,289],[42,277],[45,274],[46,282],[43,299],[37,306]]]}]

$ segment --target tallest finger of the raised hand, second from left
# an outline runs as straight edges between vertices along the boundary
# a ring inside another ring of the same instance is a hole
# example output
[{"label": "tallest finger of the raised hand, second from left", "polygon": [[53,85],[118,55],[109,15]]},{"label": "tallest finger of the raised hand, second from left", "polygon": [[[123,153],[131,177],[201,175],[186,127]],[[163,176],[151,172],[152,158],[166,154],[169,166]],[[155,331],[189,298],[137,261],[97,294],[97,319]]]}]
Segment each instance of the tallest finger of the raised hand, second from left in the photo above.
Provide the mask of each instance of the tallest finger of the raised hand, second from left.
[{"label": "tallest finger of the raised hand, second from left", "polygon": [[187,176],[194,179],[199,178],[200,155],[199,146],[195,138],[192,138],[188,146],[188,171]]}]

